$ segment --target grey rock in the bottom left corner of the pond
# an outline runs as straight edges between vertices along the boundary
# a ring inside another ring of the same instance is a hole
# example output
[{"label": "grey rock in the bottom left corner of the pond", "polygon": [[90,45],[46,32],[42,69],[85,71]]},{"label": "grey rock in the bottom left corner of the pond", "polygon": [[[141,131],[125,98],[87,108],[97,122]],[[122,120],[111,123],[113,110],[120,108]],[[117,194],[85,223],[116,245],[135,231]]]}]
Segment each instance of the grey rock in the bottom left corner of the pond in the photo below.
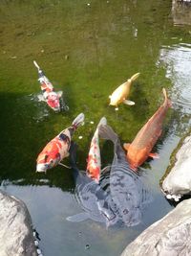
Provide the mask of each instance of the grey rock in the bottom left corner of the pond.
[{"label": "grey rock in the bottom left corner of the pond", "polygon": [[0,190],[0,256],[36,256],[25,203]]}]

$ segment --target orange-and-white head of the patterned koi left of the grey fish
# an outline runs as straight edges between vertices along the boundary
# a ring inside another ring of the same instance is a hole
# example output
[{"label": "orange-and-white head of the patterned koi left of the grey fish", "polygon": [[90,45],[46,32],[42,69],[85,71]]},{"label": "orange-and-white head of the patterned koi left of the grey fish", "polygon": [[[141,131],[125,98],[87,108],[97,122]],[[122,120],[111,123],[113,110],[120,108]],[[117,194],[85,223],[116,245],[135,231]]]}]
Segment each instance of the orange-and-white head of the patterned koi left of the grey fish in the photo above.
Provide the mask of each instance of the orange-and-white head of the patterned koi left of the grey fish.
[{"label": "orange-and-white head of the patterned koi left of the grey fish", "polygon": [[52,169],[60,161],[59,152],[41,152],[36,160],[36,172],[46,173],[47,170]]}]

